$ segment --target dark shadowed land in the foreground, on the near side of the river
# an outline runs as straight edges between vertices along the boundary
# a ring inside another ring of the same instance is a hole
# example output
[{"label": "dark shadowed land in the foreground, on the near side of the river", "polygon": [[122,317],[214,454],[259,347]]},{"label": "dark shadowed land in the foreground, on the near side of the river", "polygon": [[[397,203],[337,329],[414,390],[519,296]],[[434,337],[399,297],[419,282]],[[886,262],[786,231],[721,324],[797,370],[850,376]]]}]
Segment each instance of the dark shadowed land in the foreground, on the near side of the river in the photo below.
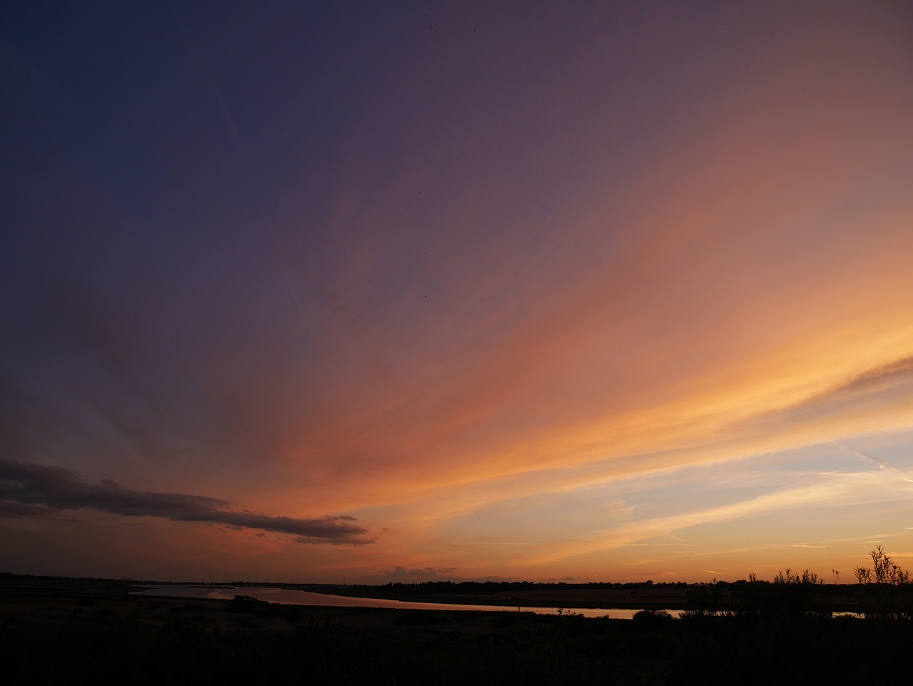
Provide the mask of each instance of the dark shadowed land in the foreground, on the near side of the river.
[{"label": "dark shadowed land in the foreground, on the near side of the river", "polygon": [[5,683],[868,684],[909,677],[913,623],[634,620],[129,596],[0,576]]}]

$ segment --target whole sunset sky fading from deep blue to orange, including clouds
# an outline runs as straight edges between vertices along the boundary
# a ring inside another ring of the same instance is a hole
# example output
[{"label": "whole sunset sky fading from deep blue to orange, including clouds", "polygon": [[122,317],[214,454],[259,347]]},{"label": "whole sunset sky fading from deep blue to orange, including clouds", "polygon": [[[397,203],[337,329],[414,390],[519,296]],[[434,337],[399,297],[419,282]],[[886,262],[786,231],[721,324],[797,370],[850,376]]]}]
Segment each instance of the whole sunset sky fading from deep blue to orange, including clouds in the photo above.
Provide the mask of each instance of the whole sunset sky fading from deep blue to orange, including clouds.
[{"label": "whole sunset sky fading from deep blue to orange, including clouds", "polygon": [[913,567],[908,2],[0,15],[0,571]]}]

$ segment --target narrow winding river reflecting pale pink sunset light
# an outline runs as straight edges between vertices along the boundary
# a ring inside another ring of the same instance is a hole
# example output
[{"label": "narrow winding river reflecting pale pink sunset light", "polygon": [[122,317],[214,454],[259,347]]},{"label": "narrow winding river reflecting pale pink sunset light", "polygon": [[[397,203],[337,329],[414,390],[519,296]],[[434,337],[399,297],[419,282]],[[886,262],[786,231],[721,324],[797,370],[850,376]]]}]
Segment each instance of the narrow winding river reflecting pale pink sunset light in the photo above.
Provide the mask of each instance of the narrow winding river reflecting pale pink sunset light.
[{"label": "narrow winding river reflecting pale pink sunset light", "polygon": [[[170,596],[188,598],[214,598],[231,600],[235,596],[251,596],[257,600],[287,605],[320,605],[330,607],[393,607],[411,610],[484,610],[487,612],[535,612],[539,615],[557,615],[559,612],[574,613],[584,617],[613,617],[630,619],[635,609],[601,609],[597,607],[505,607],[503,605],[460,605],[456,603],[416,603],[408,600],[387,600],[384,598],[353,598],[347,596],[328,596],[323,593],[296,591],[288,588],[268,588],[262,586],[151,586],[142,591],[133,592],[137,596]],[[668,610],[678,616],[678,610]]]}]

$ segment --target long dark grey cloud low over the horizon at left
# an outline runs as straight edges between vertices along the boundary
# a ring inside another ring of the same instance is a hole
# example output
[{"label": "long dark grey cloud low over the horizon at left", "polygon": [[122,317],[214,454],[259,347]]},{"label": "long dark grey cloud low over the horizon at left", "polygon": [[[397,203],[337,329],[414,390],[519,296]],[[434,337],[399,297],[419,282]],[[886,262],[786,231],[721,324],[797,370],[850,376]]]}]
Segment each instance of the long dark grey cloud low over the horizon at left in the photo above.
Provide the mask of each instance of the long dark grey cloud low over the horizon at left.
[{"label": "long dark grey cloud low over the horizon at left", "polygon": [[299,543],[364,545],[367,531],[350,516],[294,519],[228,510],[230,503],[184,493],[156,493],[124,488],[116,481],[98,484],[61,467],[0,460],[0,514],[41,516],[89,508],[129,517],[163,517],[175,522],[212,522],[229,528],[289,533]]}]

